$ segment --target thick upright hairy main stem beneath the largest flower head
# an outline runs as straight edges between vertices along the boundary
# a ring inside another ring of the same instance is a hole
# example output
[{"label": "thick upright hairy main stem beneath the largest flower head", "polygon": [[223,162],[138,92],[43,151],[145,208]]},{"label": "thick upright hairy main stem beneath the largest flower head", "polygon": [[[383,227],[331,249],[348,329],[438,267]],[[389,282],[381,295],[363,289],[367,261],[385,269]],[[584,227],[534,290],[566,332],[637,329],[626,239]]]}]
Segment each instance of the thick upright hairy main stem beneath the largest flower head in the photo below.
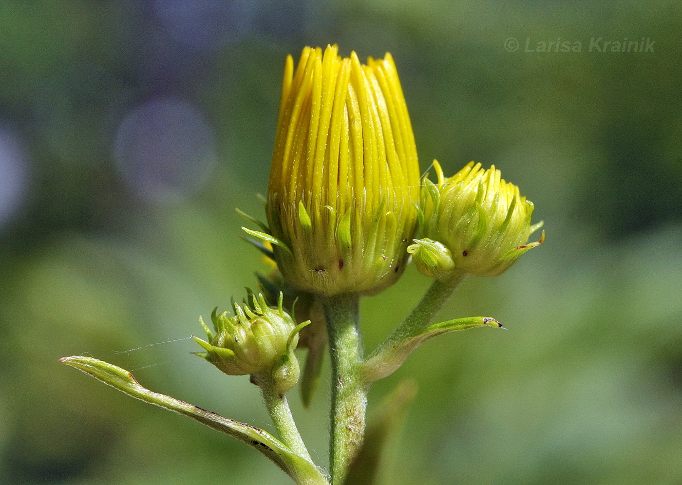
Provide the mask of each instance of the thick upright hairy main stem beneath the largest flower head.
[{"label": "thick upright hairy main stem beneath the largest flower head", "polygon": [[362,339],[359,331],[359,296],[342,294],[322,299],[331,354],[331,483],[343,483],[365,432],[367,388],[361,377]]}]

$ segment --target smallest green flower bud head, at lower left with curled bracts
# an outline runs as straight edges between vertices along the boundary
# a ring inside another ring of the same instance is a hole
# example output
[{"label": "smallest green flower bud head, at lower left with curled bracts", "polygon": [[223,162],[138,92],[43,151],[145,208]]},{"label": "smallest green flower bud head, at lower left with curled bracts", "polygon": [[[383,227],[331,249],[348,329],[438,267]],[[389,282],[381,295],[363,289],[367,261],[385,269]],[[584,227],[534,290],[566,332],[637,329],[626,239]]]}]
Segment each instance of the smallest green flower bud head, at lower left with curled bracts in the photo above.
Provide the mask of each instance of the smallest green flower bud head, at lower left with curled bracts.
[{"label": "smallest green flower bud head, at lower left with curled bracts", "polygon": [[298,332],[310,322],[296,325],[282,309],[281,293],[278,308],[267,306],[263,295],[250,294],[249,298],[250,304],[233,304],[234,317],[229,312],[216,314],[217,309],[213,310],[215,335],[199,318],[208,341],[194,337],[206,351],[198,355],[230,375],[268,372],[279,378],[280,392],[286,392],[299,377],[299,364],[293,353]]}]

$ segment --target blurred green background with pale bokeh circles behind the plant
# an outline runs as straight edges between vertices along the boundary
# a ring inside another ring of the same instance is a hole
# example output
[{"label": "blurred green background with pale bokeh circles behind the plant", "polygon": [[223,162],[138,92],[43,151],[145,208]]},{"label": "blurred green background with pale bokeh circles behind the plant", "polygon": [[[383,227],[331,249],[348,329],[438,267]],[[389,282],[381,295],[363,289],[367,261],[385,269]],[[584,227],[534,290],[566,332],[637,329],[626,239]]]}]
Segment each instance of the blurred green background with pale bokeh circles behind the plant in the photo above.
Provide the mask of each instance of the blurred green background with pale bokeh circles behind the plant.
[{"label": "blurred green background with pale bokeh circles behind the plant", "polygon": [[[288,483],[57,359],[270,429],[248,377],[188,338],[265,269],[233,208],[262,214],[284,56],[331,42],[394,55],[423,170],[494,164],[548,231],[443,310],[507,332],[428,342],[372,389],[420,387],[392,483],[682,483],[681,18],[676,1],[1,0],[0,483]],[[582,49],[537,52],[557,39]],[[364,300],[368,349],[427,286],[411,267]],[[292,399],[323,462],[327,384],[310,411]]]}]

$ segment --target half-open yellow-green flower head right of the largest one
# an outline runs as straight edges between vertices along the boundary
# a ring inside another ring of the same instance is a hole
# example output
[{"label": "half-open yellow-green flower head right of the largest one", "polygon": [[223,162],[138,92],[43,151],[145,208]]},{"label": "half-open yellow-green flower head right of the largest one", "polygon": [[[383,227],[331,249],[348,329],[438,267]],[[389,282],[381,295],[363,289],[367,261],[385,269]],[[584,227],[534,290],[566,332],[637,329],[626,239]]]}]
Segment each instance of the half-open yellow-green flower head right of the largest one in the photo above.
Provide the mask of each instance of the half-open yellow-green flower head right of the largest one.
[{"label": "half-open yellow-green flower head right of the largest one", "polygon": [[531,225],[533,203],[505,182],[491,166],[470,162],[453,177],[443,177],[436,160],[438,183],[424,178],[419,227],[425,239],[408,251],[421,273],[439,280],[455,274],[497,276],[520,256],[542,244],[528,238],[542,226]]}]

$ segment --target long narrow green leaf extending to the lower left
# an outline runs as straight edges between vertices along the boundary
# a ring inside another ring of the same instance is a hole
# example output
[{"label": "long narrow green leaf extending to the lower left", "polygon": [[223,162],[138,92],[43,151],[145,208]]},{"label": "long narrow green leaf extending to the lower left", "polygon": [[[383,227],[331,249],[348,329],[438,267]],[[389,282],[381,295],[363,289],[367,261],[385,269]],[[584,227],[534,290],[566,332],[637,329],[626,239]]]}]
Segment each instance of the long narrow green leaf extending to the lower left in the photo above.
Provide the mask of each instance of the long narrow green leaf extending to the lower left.
[{"label": "long narrow green leaf extending to the lower left", "polygon": [[312,462],[301,458],[281,441],[260,428],[228,419],[165,394],[152,392],[140,385],[128,370],[108,364],[108,362],[82,355],[62,357],[59,362],[82,370],[95,379],[125,392],[128,396],[191,417],[192,420],[246,443],[275,462],[297,484],[329,485],[323,473]]}]

